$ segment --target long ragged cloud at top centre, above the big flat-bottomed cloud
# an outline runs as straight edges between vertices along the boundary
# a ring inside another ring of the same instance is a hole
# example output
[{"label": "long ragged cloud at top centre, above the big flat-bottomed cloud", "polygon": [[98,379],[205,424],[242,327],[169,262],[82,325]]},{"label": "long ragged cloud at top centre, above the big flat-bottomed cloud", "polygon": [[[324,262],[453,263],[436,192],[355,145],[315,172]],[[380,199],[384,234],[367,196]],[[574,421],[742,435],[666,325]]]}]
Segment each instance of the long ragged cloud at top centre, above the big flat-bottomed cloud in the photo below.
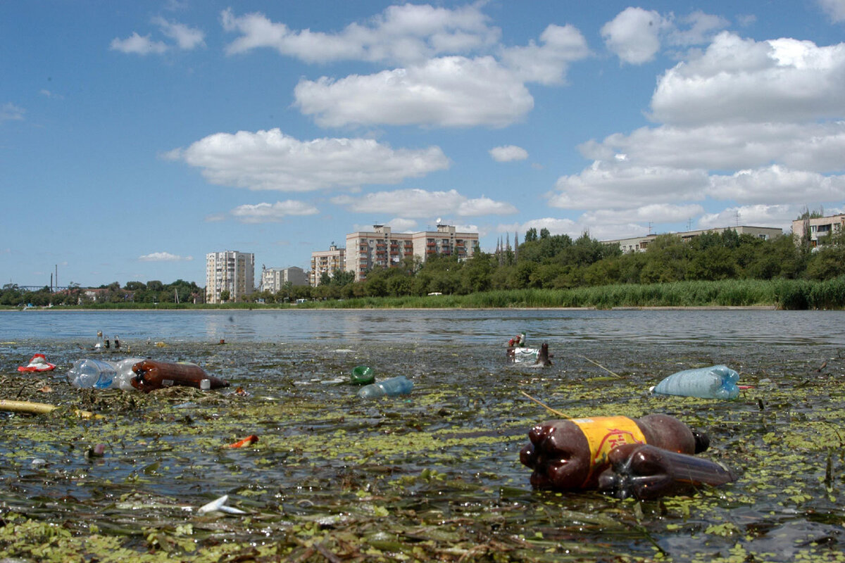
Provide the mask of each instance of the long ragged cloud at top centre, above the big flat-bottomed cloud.
[{"label": "long ragged cloud at top centre, above the big flat-bottomed cloud", "polygon": [[499,41],[501,31],[488,25],[480,6],[390,6],[364,24],[347,25],[340,33],[291,30],[264,14],[236,16],[231,9],[221,13],[221,22],[224,30],[240,34],[226,46],[229,54],[271,48],[305,62],[421,62],[444,53],[477,51]]}]

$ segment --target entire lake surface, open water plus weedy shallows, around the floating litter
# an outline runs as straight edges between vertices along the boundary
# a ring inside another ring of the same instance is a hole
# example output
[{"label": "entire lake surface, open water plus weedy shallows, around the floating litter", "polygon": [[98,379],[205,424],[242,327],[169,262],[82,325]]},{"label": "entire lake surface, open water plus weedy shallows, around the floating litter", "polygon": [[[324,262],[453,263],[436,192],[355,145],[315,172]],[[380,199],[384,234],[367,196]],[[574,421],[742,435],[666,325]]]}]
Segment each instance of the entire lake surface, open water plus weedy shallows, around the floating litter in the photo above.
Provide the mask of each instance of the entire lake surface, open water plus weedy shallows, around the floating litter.
[{"label": "entire lake surface, open water plus weedy shallows, around the floating litter", "polygon": [[[106,417],[0,413],[0,507],[77,539],[96,526],[139,553],[149,530],[190,524],[196,545],[238,542],[245,554],[293,549],[310,530],[335,552],[352,542],[422,550],[420,560],[456,560],[455,549],[481,544],[526,561],[841,561],[843,320],[725,309],[0,312],[0,398]],[[103,359],[131,348],[192,361],[232,387],[71,387],[68,368],[94,354],[97,331],[125,344]],[[505,341],[521,331],[530,345],[549,343],[553,365],[505,360]],[[56,371],[18,374],[35,352]],[[735,401],[647,391],[713,364],[751,388]],[[407,376],[412,393],[357,398],[355,365],[378,380]],[[532,490],[520,449],[533,425],[559,415],[522,392],[565,416],[671,414],[706,432],[701,455],[739,479],[641,505]],[[254,447],[223,448],[250,434]],[[96,443],[105,457],[86,457]],[[224,494],[250,516],[196,514]],[[38,559],[28,554],[10,555]]]}]

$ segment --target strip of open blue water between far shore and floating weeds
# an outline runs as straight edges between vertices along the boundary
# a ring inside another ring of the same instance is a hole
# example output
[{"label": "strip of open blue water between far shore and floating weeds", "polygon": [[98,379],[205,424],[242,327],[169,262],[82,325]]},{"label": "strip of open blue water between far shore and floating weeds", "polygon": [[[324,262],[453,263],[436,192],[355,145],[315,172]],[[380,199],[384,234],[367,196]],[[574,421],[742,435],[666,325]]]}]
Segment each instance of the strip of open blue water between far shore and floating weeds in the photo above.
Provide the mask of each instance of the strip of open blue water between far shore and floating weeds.
[{"label": "strip of open blue water between far shore and floating weeds", "polygon": [[10,311],[0,341],[296,343],[455,342],[500,344],[524,331],[529,343],[845,344],[842,311],[769,310],[355,310],[355,311]]}]

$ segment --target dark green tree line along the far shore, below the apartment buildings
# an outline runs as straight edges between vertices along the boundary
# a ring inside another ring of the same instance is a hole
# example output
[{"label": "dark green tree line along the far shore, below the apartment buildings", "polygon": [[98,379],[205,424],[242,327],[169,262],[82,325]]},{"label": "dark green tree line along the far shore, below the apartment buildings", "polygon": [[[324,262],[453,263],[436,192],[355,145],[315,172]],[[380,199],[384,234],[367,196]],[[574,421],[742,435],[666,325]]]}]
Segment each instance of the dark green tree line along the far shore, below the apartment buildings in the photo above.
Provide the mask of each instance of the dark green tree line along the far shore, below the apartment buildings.
[{"label": "dark green tree line along the far shore, below the apartment buildings", "polygon": [[[423,262],[406,257],[391,268],[373,268],[356,282],[352,272],[324,273],[316,287],[285,284],[275,292],[254,292],[247,301],[285,303],[297,299],[339,300],[358,297],[408,295],[468,295],[491,290],[574,289],[608,284],[662,284],[723,279],[834,279],[845,274],[845,233],[825,237],[825,244],[810,246],[809,234],[762,240],[728,229],[708,232],[684,241],[677,235],[658,235],[646,252],[622,252],[619,245],[597,241],[588,233],[575,240],[529,229],[521,244],[496,252],[481,252],[459,260],[433,255]],[[101,285],[97,302],[194,303],[204,301],[204,290],[178,279],[117,282]],[[0,305],[85,305],[90,297],[76,284],[51,293],[20,290],[7,284],[0,290]]]}]

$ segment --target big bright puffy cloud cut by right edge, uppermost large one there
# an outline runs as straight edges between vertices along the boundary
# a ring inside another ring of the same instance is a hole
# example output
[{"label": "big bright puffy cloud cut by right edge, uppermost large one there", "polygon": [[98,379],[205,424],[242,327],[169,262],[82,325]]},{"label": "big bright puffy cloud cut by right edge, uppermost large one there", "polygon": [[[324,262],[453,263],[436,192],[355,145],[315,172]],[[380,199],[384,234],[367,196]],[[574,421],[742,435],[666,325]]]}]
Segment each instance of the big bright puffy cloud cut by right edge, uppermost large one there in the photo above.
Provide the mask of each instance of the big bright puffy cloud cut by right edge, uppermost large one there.
[{"label": "big bright puffy cloud cut by right edge, uppermost large one there", "polygon": [[662,75],[651,99],[658,122],[804,122],[845,112],[845,44],[754,41],[722,32],[696,59]]}]

